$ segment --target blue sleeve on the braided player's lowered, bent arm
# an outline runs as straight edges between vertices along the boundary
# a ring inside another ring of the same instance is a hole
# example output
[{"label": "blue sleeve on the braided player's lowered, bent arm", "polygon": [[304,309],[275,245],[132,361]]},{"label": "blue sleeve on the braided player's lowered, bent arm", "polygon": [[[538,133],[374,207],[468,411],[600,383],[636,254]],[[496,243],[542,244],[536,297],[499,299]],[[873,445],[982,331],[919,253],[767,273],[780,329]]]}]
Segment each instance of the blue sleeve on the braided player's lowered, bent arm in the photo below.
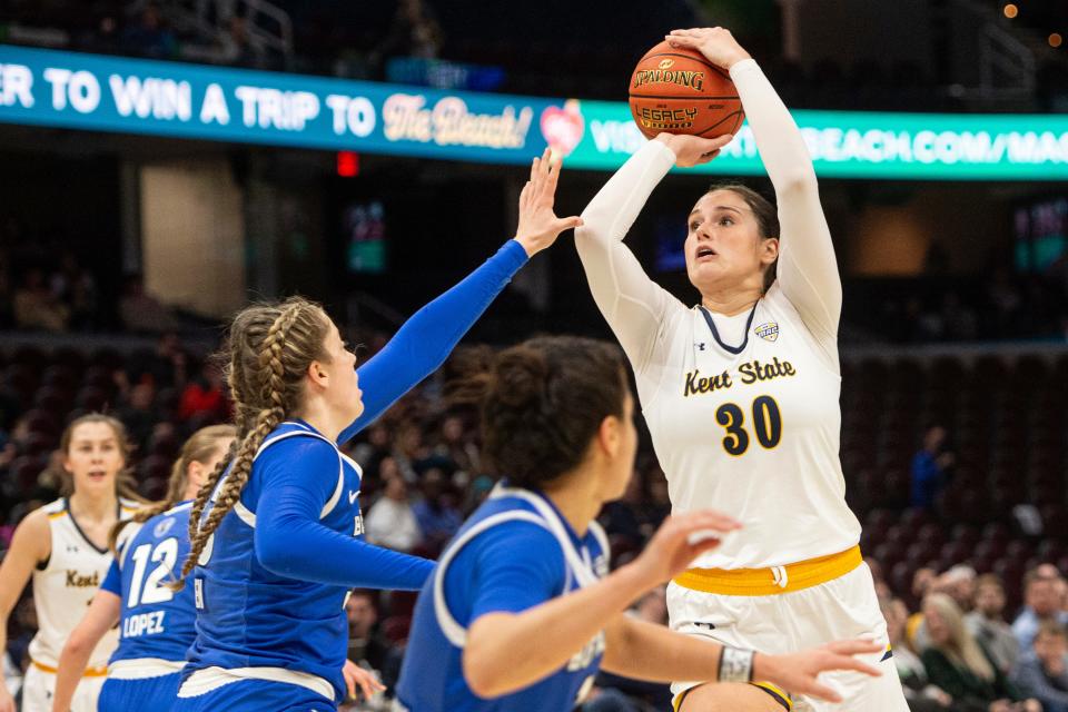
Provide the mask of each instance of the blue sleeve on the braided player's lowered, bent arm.
[{"label": "blue sleeve on the braided player's lowered, bent arm", "polygon": [[373,546],[319,521],[337,481],[329,444],[294,437],[257,461],[263,476],[256,503],[256,557],[279,576],[362,589],[416,591],[434,562]]}]

